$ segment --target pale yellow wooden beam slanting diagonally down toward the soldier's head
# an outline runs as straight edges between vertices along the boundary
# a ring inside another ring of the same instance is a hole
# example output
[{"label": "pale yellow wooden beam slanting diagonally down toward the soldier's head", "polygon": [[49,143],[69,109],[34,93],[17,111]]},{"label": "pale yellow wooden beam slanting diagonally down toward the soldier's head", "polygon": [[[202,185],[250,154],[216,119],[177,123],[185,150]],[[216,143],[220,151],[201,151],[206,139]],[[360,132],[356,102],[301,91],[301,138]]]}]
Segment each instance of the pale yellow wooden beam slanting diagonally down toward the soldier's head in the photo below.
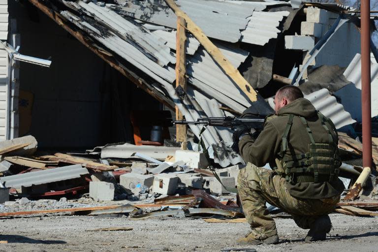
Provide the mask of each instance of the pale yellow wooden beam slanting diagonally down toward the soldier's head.
[{"label": "pale yellow wooden beam slanting diagonally down toward the soldier's head", "polygon": [[236,85],[248,96],[251,101],[257,100],[257,93],[253,90],[251,84],[244,79],[238,69],[236,69],[221,53],[218,47],[216,47],[205,33],[199,28],[189,16],[182,11],[174,2],[174,0],[165,0],[169,7],[175,12],[176,16],[183,17],[187,22],[188,31],[191,32],[195,38],[202,44],[205,50],[213,57],[213,59],[219,64],[223,71],[230,77]]}]

